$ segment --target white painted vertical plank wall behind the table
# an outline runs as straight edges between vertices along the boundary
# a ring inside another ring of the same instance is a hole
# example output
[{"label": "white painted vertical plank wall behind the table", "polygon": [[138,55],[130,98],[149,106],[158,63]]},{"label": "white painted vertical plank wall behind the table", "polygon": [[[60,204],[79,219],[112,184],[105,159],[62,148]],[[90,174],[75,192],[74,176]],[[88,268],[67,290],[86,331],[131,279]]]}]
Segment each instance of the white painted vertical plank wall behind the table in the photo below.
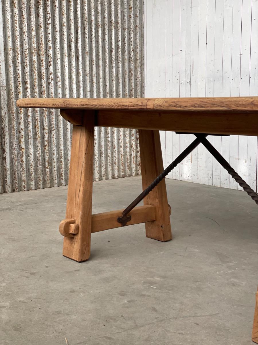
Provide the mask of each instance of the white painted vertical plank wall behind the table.
[{"label": "white painted vertical plank wall behind the table", "polygon": [[[145,0],[145,97],[258,95],[257,0]],[[193,135],[161,132],[167,166]],[[209,136],[257,190],[257,137]],[[241,189],[200,145],[169,178]]]}]

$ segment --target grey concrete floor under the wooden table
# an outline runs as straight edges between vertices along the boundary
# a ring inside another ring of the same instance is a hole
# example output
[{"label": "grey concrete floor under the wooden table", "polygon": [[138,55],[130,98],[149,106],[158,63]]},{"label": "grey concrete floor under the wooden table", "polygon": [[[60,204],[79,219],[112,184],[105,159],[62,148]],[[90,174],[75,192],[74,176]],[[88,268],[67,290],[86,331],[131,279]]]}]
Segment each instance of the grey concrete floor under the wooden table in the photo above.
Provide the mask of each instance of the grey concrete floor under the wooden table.
[{"label": "grey concrete floor under the wooden table", "polygon": [[[242,191],[166,180],[173,240],[144,225],[62,256],[67,187],[0,195],[1,345],[252,344],[258,208]],[[94,183],[93,212],[126,207],[139,177]]]}]

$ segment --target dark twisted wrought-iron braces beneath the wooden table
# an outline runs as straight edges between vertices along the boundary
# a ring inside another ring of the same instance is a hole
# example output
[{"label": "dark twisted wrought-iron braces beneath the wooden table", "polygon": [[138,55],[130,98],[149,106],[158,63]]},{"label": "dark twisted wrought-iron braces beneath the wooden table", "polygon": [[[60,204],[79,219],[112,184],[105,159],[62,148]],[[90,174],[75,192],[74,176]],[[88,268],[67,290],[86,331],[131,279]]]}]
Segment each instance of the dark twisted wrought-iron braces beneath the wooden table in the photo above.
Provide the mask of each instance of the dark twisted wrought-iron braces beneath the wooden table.
[{"label": "dark twisted wrought-iron braces beneath the wooden table", "polygon": [[117,217],[118,223],[121,223],[122,226],[125,226],[126,223],[131,220],[131,216],[128,215],[130,211],[135,208],[135,206],[137,206],[140,201],[142,201],[152,191],[152,189],[155,188],[160,183],[160,181],[162,181],[163,178],[165,178],[165,176],[169,174],[170,171],[172,171],[201,143],[258,205],[258,194],[237,174],[237,172],[229,165],[229,163],[222,157],[222,155],[206,139],[209,134],[187,134],[194,134],[196,136],[196,139],[164,171],[162,171],[162,173],[135,200],[133,200],[133,202],[125,210],[123,210],[120,217]]}]

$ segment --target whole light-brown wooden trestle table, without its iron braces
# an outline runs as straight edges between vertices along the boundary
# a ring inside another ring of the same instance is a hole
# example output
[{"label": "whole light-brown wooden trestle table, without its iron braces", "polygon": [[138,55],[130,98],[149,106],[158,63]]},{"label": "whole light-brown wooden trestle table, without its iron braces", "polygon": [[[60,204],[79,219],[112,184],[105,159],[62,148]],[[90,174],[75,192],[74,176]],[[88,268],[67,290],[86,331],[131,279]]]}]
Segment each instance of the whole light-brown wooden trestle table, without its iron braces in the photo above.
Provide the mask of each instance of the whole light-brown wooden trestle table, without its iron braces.
[{"label": "whole light-brown wooden trestle table, without its iron braces", "polygon": [[[92,214],[94,127],[139,131],[142,188],[163,171],[159,130],[211,135],[258,136],[258,97],[207,98],[23,98],[20,108],[57,108],[73,124],[63,255],[77,262],[90,256],[92,233],[145,223],[146,236],[172,239],[165,179],[134,207],[126,224],[123,210]],[[130,219],[130,220],[129,220]],[[252,340],[258,343],[258,302]]]}]

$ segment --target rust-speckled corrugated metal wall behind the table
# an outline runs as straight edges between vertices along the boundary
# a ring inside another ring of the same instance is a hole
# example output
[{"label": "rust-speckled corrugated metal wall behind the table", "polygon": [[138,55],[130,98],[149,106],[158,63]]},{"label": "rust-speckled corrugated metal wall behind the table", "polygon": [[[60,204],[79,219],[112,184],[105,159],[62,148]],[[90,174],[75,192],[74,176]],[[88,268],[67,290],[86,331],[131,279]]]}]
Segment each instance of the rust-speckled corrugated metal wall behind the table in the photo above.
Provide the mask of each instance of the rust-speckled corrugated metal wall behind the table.
[{"label": "rust-speckled corrugated metal wall behind the table", "polygon": [[[143,97],[143,0],[0,0],[0,60],[0,193],[66,185],[70,125],[15,102]],[[140,172],[136,130],[96,128],[94,154],[94,180]]]}]

